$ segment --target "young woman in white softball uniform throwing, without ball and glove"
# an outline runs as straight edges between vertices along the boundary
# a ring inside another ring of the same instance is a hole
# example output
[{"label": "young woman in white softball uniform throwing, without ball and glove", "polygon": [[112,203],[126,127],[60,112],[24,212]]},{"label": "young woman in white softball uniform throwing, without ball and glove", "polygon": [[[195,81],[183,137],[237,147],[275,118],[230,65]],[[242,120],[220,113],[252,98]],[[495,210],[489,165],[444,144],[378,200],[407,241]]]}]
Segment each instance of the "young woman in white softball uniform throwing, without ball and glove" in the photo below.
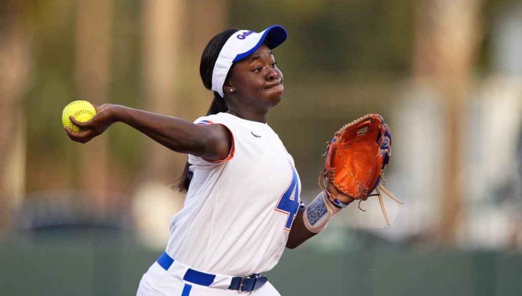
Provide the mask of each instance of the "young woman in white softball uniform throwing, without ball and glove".
[{"label": "young woman in white softball uniform throwing, without ball and glove", "polygon": [[167,248],[141,279],[138,295],[279,295],[260,273],[277,264],[285,246],[314,236],[352,201],[330,186],[337,199],[321,192],[305,208],[293,158],[266,123],[284,90],[271,50],[286,38],[281,26],[214,36],[200,64],[214,98],[207,116],[194,122],[112,104],[97,107],[88,122],[71,118],[82,128],[66,128],[77,142],[124,122],[188,154],[180,179],[184,207],[173,216]]}]

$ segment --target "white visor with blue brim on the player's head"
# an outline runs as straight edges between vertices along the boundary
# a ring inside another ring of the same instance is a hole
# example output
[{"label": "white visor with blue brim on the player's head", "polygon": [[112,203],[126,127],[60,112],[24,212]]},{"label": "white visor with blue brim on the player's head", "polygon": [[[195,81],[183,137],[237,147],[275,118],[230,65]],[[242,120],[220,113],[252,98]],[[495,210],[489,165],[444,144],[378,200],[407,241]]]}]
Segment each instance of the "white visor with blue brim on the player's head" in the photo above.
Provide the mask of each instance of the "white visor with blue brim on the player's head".
[{"label": "white visor with blue brim on the player's head", "polygon": [[233,63],[253,54],[265,41],[272,49],[286,39],[287,30],[279,25],[268,27],[260,33],[240,30],[232,34],[221,48],[212,71],[212,90],[223,97],[223,84]]}]

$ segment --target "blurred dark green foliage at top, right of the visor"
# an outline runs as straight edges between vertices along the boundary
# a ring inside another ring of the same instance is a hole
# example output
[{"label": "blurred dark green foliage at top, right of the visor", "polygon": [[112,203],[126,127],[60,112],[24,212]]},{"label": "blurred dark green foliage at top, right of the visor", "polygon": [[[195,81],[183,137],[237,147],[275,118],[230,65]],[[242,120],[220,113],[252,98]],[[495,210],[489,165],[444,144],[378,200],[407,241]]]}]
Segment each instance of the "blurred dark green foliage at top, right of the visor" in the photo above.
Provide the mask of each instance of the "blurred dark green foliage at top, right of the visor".
[{"label": "blurred dark green foliage at top, right of the visor", "polygon": [[288,29],[290,42],[277,54],[289,81],[404,77],[410,72],[414,1],[400,0],[393,7],[382,1],[239,3],[232,5],[232,25],[281,23]]}]

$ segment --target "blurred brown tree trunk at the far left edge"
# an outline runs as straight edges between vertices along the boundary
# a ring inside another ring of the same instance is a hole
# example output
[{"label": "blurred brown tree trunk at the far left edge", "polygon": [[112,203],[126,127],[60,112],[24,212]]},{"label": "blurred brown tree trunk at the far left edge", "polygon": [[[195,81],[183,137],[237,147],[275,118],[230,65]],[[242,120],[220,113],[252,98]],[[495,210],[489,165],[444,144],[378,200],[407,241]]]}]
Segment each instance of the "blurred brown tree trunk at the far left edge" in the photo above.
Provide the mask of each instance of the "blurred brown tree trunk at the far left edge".
[{"label": "blurred brown tree trunk at the far left edge", "polygon": [[0,2],[0,232],[24,193],[26,133],[21,98],[30,86],[32,32],[23,3]]}]

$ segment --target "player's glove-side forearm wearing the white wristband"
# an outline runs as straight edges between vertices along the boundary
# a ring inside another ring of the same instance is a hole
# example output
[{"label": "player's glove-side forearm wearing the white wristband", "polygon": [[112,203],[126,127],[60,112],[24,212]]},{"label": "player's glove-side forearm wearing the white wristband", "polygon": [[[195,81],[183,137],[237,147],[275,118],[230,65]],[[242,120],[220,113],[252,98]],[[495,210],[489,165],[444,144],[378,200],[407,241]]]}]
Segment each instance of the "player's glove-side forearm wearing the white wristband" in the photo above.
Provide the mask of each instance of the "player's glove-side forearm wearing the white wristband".
[{"label": "player's glove-side forearm wearing the white wristband", "polygon": [[[353,201],[352,198],[340,193],[331,183],[327,185],[327,188],[328,192],[334,194],[341,202],[349,204]],[[300,208],[295,215],[288,236],[287,248],[294,249],[307,239],[315,236],[326,227],[331,216],[341,210],[327,198],[323,198],[322,194],[323,192],[319,193],[312,203],[306,208]],[[311,215],[305,215],[305,211],[308,211]]]}]

